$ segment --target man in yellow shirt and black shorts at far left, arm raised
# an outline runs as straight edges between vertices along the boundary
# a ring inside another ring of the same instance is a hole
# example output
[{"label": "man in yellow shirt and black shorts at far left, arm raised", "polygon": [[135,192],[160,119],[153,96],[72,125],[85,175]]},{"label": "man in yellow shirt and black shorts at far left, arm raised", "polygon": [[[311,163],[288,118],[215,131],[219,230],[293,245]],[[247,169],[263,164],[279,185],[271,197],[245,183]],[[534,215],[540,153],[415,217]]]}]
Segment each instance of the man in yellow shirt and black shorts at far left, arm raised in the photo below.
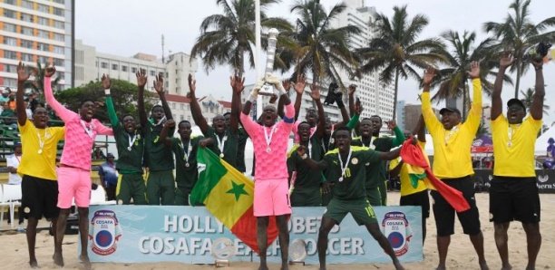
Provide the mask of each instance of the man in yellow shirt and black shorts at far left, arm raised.
[{"label": "man in yellow shirt and black shorts at far left, arm raised", "polygon": [[[27,119],[24,106],[24,82],[29,79],[23,63],[17,66],[17,92],[15,94],[17,125],[22,141],[21,162],[17,173],[23,176],[21,183],[24,213],[27,218],[27,246],[29,265],[38,267],[34,247],[36,243],[36,226],[43,216],[56,227],[58,214],[58,182],[56,181],[56,152],[58,141],[63,140],[63,127],[48,127],[48,112],[37,107],[33,112],[33,121]],[[12,221],[14,222],[14,221]],[[54,240],[56,230],[53,230]]]}]

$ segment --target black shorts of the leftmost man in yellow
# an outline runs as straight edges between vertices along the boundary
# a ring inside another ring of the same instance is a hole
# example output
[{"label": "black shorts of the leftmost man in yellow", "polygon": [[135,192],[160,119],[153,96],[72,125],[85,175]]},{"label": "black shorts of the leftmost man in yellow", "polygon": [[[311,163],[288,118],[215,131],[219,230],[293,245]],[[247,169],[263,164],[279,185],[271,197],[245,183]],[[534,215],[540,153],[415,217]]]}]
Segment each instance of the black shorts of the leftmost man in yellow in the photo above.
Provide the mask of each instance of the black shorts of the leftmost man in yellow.
[{"label": "black shorts of the leftmost man in yellow", "polygon": [[24,217],[47,219],[58,217],[58,181],[24,175],[21,182],[21,207]]}]

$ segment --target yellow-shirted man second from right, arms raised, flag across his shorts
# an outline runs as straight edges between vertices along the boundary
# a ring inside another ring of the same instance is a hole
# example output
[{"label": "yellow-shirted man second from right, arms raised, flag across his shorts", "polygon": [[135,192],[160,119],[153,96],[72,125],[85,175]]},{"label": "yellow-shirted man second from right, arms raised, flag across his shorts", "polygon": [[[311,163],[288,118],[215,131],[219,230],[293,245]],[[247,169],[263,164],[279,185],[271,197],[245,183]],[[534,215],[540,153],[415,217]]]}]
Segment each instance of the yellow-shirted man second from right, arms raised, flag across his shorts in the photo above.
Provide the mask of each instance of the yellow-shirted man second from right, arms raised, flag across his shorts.
[{"label": "yellow-shirted man second from right, arms raised, flag across his shorts", "polygon": [[[440,111],[441,121],[435,116],[430,101],[430,84],[435,71],[429,68],[424,73],[424,92],[422,93],[422,114],[426,128],[433,140],[433,174],[452,188],[463,193],[470,209],[457,213],[463,226],[463,233],[470,236],[472,246],[478,255],[481,269],[488,269],[483,255],[483,236],[480,227],[478,207],[474,198],[472,183],[471,146],[482,119],[482,82],[480,81],[479,63],[471,63],[468,74],[472,78],[472,107],[466,121],[461,122],[461,111],[456,108],[443,108]],[[447,251],[454,234],[454,214],[451,205],[437,191],[432,190],[433,217],[437,227],[437,249],[439,265],[437,269],[445,269]]]}]

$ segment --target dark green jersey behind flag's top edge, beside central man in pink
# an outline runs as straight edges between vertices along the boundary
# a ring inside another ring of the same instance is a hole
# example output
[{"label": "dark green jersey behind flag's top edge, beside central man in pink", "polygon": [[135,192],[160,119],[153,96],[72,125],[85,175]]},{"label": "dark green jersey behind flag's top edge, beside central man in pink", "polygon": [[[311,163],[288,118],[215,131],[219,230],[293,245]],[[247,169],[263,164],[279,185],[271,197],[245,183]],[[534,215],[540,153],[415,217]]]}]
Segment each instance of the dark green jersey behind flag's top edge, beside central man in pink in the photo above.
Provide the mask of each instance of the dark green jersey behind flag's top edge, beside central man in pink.
[{"label": "dark green jersey behind flag's top edge, beside central man in pink", "polygon": [[212,138],[214,143],[209,146],[209,149],[212,150],[216,155],[221,157],[222,151],[220,148],[223,148],[223,159],[229,163],[229,165],[233,166],[233,168],[237,167],[237,159],[238,159],[238,150],[239,150],[239,131],[236,133],[231,132],[231,130],[227,129],[224,133],[224,136],[218,136],[216,134],[216,130],[214,128],[209,127],[209,129],[204,134],[206,138]]}]

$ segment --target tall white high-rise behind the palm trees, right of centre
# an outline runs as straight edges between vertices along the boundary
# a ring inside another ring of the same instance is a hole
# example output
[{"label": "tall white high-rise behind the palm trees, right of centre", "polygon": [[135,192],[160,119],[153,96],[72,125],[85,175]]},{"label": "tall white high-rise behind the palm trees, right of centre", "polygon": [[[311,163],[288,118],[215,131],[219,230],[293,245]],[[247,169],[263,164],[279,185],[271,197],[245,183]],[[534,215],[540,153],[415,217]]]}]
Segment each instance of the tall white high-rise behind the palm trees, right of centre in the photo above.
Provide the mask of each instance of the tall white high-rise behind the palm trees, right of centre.
[{"label": "tall white high-rise behind the palm trees, right of centre", "polygon": [[[347,25],[358,26],[361,33],[351,36],[351,43],[349,45],[353,49],[366,47],[374,36],[371,22],[375,16],[375,7],[365,6],[364,0],[344,0],[343,2],[346,4],[346,10],[338,15],[332,26],[334,28]],[[351,83],[357,86],[355,94],[364,107],[362,117],[379,115],[384,121],[392,120],[394,83],[384,85],[379,80],[378,72],[366,73],[360,80],[356,78],[355,80],[350,80],[346,72],[343,72],[341,80],[346,86]]]}]

